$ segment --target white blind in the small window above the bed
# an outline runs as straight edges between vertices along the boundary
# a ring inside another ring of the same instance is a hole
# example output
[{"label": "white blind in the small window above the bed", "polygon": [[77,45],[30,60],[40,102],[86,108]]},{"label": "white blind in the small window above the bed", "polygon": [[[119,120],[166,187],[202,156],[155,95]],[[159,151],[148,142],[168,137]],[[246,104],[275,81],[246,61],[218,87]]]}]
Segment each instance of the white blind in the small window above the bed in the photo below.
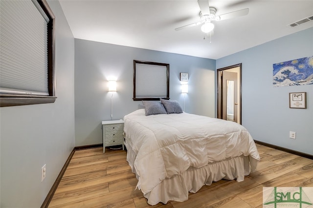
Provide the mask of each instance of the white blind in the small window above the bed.
[{"label": "white blind in the small window above the bed", "polygon": [[167,97],[167,67],[162,65],[135,64],[136,98]]}]

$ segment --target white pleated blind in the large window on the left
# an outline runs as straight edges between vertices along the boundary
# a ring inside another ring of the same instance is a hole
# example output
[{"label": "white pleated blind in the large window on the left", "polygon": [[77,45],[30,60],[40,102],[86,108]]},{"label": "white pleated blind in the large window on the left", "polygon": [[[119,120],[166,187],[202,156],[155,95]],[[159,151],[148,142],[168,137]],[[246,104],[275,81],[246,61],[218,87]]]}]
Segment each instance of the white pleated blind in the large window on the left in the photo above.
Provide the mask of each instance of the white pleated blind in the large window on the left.
[{"label": "white pleated blind in the large window on the left", "polygon": [[1,0],[0,93],[49,95],[48,21],[37,0]]}]

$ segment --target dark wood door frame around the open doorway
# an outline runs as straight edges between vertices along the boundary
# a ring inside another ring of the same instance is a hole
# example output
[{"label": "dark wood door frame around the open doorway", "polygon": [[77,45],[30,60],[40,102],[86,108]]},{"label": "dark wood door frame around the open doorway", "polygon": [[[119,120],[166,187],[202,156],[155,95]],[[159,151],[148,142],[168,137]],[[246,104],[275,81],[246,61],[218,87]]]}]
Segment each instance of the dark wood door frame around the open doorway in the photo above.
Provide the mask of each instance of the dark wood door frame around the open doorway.
[{"label": "dark wood door frame around the open doorway", "polygon": [[226,66],[224,68],[220,68],[220,69],[217,69],[217,77],[216,77],[216,83],[217,83],[217,92],[216,92],[216,95],[217,95],[217,118],[219,119],[222,119],[223,118],[223,93],[222,93],[222,80],[221,80],[221,73],[222,71],[224,70],[229,70],[229,69],[232,69],[232,68],[237,68],[239,67],[239,76],[240,76],[240,80],[239,80],[239,121],[237,121],[237,123],[241,124],[241,118],[242,118],[242,63],[238,63],[238,64],[235,64],[235,65],[231,65],[231,66]]}]

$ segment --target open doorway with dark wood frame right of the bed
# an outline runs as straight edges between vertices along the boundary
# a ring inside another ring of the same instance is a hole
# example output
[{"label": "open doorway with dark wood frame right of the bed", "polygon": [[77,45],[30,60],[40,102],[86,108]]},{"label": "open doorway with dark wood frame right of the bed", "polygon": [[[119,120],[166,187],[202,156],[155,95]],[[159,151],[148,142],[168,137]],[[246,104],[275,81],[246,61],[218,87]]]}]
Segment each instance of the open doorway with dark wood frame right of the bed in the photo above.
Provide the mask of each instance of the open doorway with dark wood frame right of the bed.
[{"label": "open doorway with dark wood frame right of the bed", "polygon": [[241,124],[242,63],[217,70],[217,118]]}]

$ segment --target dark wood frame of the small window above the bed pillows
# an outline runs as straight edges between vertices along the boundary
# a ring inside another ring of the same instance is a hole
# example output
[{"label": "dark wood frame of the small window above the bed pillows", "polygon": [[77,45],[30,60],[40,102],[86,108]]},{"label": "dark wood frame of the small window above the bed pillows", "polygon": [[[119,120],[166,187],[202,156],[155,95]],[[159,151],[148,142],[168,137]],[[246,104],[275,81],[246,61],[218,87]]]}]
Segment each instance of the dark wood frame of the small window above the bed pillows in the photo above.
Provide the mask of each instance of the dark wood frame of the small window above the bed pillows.
[{"label": "dark wood frame of the small window above the bed pillows", "polygon": [[[136,63],[147,64],[147,65],[159,65],[166,66],[166,97],[136,97]],[[134,60],[134,101],[159,101],[160,98],[169,100],[170,99],[170,64],[169,63],[157,63],[157,62],[146,62]]]}]

